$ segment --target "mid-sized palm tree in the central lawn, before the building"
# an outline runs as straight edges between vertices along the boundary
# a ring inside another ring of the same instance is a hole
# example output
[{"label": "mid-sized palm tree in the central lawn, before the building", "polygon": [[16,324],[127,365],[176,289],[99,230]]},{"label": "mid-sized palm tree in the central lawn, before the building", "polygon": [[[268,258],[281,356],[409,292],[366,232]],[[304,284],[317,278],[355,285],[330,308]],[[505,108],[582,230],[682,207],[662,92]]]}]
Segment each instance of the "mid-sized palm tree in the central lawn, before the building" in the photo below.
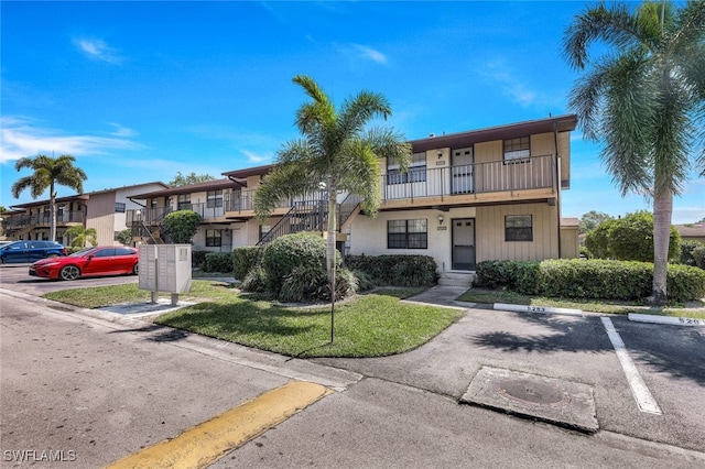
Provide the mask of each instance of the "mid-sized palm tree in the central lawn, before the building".
[{"label": "mid-sized palm tree in the central lawn, before the building", "polygon": [[[262,178],[254,195],[254,212],[263,219],[280,200],[323,188],[328,203],[326,271],[330,292],[335,292],[338,190],[358,195],[362,210],[370,217],[376,216],[380,205],[379,159],[393,159],[405,171],[411,148],[402,135],[389,128],[366,129],[371,119],[387,119],[392,112],[382,95],[360,91],[336,110],[330,98],[311,77],[297,75],[293,81],[312,99],[296,112],[296,127],[303,138],[284,144],[279,151],[276,165]],[[330,341],[334,307],[332,301]]]}]

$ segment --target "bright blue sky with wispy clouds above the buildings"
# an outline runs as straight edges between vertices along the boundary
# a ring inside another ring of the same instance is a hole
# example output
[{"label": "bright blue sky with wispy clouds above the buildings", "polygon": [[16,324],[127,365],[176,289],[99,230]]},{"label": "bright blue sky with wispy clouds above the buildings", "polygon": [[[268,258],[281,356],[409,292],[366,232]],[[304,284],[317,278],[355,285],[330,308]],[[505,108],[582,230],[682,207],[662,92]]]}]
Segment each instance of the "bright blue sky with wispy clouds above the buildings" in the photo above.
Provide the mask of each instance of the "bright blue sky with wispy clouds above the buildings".
[{"label": "bright blue sky with wispy clouds above the buildings", "polygon": [[[32,200],[10,187],[39,153],[74,155],[85,192],[272,163],[297,137],[297,74],[337,103],[383,94],[409,140],[568,113],[561,40],[588,4],[2,1],[0,205]],[[574,132],[563,216],[639,209]],[[673,222],[704,217],[693,174]]]}]

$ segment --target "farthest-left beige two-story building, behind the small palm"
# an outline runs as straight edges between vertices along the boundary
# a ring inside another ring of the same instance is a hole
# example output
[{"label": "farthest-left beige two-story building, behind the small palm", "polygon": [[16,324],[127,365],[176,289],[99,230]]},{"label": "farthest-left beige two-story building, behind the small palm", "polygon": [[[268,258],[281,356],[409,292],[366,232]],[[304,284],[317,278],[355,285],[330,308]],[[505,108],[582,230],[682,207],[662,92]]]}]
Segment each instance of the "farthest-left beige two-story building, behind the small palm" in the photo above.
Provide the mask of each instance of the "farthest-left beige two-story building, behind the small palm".
[{"label": "farthest-left beige two-story building, behind the small palm", "polygon": [[[128,196],[135,190],[169,187],[160,182],[96,190],[56,198],[56,241],[68,246],[66,230],[76,225],[96,230],[98,244],[117,244],[116,234],[127,228],[127,211],[139,207]],[[4,237],[9,240],[47,240],[50,200],[19,204],[2,214]]]}]

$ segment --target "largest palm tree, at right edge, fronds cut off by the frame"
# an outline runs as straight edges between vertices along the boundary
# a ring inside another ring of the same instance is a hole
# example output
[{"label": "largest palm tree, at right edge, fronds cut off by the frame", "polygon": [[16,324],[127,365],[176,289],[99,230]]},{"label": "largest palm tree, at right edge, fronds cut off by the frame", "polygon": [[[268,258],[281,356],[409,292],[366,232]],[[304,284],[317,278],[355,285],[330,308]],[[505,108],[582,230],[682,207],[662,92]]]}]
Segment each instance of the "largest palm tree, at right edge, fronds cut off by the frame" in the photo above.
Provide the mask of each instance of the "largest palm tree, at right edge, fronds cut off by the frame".
[{"label": "largest palm tree, at right edge, fronds cut off by the frame", "polygon": [[690,170],[705,174],[705,151],[693,151],[705,140],[705,1],[588,8],[565,31],[570,65],[584,70],[597,41],[607,53],[576,81],[570,106],[585,137],[605,141],[601,157],[622,196],[653,199],[650,299],[663,304],[673,196]]}]

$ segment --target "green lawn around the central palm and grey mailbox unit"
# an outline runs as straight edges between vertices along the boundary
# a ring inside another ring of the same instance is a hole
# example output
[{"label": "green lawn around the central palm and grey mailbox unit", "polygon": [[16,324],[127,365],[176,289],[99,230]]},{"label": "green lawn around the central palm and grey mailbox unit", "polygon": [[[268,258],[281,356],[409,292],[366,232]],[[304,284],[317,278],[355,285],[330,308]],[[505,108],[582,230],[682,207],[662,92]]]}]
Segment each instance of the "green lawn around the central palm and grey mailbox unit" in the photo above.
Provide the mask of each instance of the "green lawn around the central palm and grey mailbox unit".
[{"label": "green lawn around the central palm and grey mailbox unit", "polygon": [[[423,288],[383,288],[339,303],[335,340],[330,306],[292,307],[240,295],[227,284],[194,281],[184,301],[197,304],[154,323],[291,357],[381,357],[414,349],[462,316],[456,309],[400,303]],[[135,284],[78,288],[44,295],[82,307],[149,301]]]}]

